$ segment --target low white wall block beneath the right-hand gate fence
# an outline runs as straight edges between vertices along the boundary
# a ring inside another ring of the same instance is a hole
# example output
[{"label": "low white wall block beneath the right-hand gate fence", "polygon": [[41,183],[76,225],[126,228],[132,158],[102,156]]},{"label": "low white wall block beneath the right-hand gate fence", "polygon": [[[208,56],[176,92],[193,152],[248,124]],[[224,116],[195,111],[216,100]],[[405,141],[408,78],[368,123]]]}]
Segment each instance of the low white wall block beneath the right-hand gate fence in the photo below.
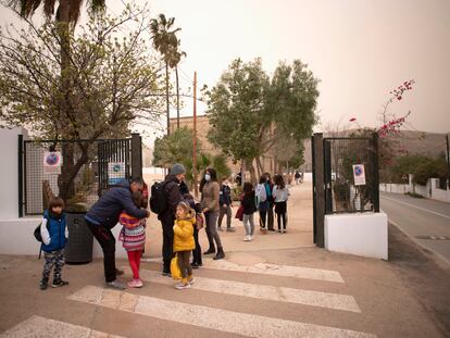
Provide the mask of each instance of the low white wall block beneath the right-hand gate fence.
[{"label": "low white wall block beneath the right-hand gate fence", "polygon": [[387,260],[387,215],[384,212],[325,215],[325,248]]}]

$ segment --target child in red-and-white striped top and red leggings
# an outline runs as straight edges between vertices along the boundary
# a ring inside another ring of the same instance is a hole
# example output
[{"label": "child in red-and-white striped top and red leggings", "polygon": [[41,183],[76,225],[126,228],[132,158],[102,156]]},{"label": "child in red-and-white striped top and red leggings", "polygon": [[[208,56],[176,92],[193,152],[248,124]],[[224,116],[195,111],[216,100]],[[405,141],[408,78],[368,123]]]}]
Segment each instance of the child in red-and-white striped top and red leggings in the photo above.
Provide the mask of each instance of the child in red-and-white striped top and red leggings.
[{"label": "child in red-and-white striped top and red leggings", "polygon": [[[141,191],[132,193],[133,201],[137,208],[142,205],[143,196]],[[146,218],[136,218],[123,212],[118,217],[123,225],[118,240],[128,255],[129,266],[133,272],[133,280],[128,281],[129,288],[141,288],[143,283],[139,277],[140,258],[146,245]]]}]

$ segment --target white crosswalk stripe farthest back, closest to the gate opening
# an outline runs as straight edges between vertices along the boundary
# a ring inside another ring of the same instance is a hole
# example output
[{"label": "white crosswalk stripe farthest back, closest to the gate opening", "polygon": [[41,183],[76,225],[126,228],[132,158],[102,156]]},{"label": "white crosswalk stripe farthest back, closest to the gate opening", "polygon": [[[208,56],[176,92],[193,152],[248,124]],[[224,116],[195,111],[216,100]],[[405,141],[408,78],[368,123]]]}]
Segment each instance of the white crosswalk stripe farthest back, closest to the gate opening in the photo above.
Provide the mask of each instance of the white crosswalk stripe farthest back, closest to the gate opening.
[{"label": "white crosswalk stripe farthest back, closest to the gate opening", "polygon": [[[143,259],[143,262],[161,262],[161,259]],[[345,283],[341,275],[337,271],[290,266],[290,265],[275,265],[267,263],[259,263],[255,265],[243,266],[227,260],[203,260],[203,268],[225,270],[232,272],[242,272],[252,274],[263,274],[279,277],[293,277],[300,279],[314,279],[323,281]]]}]

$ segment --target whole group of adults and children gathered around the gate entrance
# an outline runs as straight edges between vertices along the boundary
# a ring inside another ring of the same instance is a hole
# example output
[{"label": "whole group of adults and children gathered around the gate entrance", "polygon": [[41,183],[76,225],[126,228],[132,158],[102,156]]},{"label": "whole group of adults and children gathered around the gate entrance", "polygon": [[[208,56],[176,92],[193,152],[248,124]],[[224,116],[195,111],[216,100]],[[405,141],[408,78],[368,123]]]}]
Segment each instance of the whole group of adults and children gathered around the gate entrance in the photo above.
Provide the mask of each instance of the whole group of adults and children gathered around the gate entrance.
[{"label": "whole group of adults and children gathered around the gate entrance", "polygon": [[[195,283],[192,268],[202,266],[202,252],[199,243],[199,230],[205,227],[209,248],[203,254],[213,254],[213,260],[225,258],[218,230],[226,215],[226,230],[232,227],[232,193],[229,180],[217,181],[214,168],[208,168],[200,181],[201,200],[196,202],[185,183],[186,168],[183,164],[172,166],[170,174],[161,184],[160,198],[164,208],[159,210],[158,218],[163,230],[163,266],[162,274],[171,276],[171,262],[176,255],[182,280],[177,289],[190,288]],[[86,214],[86,224],[103,251],[103,268],[108,287],[116,289],[140,288],[143,283],[139,276],[140,260],[146,242],[146,220],[150,216],[147,210],[148,192],[141,178],[132,181],[123,180],[113,186],[90,208]],[[254,236],[254,212],[260,213],[260,229],[274,230],[274,209],[277,215],[278,231],[285,233],[287,225],[288,187],[283,176],[276,175],[272,181],[270,174],[261,176],[255,188],[251,183],[243,183],[240,196],[239,218],[246,229],[246,241]],[[52,287],[67,285],[61,278],[64,265],[64,247],[67,241],[64,203],[60,198],[50,200],[49,209],[43,214],[40,226],[45,266],[40,288],[47,289],[49,275],[54,267]],[[204,221],[203,221],[204,216]],[[238,214],[236,215],[238,217]],[[218,221],[218,223],[217,223]],[[133,280],[127,285],[117,279],[123,274],[115,266],[115,238],[111,229],[120,223],[122,229],[118,239],[127,251]],[[218,229],[218,230],[217,230]],[[192,256],[192,260],[190,258]]]}]

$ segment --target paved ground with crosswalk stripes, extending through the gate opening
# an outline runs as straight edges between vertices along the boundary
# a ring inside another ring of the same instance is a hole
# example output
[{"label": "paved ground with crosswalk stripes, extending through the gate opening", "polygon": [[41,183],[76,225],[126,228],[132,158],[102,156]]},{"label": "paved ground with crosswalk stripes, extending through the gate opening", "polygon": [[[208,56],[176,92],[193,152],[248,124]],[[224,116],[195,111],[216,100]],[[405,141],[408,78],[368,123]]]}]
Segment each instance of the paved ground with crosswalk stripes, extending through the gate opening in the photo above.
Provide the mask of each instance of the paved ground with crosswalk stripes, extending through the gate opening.
[{"label": "paved ground with crosswalk stripes, extending through the gate opening", "polygon": [[[393,265],[312,247],[310,187],[291,192],[288,234],[247,243],[236,225],[237,234],[223,234],[226,260],[205,258],[189,290],[161,276],[160,228],[151,222],[141,289],[105,289],[102,261],[95,260],[66,265],[70,285],[41,291],[41,260],[0,256],[0,337],[446,337],[417,298],[433,290],[409,286],[401,252]],[[117,265],[129,280],[127,261]],[[448,275],[440,276],[442,284]]]}]

